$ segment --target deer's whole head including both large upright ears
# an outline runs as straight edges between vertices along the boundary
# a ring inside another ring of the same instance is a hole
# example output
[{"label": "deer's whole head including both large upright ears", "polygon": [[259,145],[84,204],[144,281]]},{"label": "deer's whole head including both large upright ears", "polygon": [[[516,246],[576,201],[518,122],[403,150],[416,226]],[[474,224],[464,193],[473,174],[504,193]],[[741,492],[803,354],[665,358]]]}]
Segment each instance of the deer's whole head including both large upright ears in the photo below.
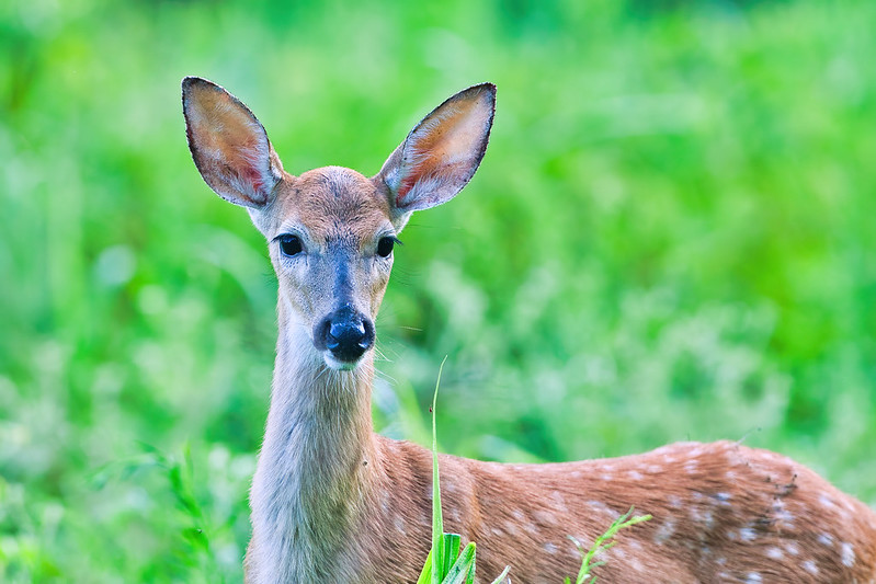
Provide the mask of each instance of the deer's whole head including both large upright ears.
[{"label": "deer's whole head including both large upright ears", "polygon": [[475,85],[425,118],[366,179],[340,167],[293,176],[246,105],[200,78],[183,80],[189,147],[206,183],[248,207],[269,242],[281,310],[333,369],[374,346],[397,236],[414,210],[453,198],[487,148],[496,88]]}]

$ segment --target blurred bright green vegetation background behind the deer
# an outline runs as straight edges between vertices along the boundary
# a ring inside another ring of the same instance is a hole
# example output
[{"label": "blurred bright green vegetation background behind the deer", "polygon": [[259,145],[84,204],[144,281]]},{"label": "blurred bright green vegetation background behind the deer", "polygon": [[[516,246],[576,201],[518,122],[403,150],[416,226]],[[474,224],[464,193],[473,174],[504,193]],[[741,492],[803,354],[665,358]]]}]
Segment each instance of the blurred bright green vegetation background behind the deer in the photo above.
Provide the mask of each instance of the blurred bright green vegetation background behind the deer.
[{"label": "blurred bright green vegetation background behind the deer", "polygon": [[[179,83],[291,172],[375,173],[499,87],[402,233],[375,419],[501,460],[743,439],[876,502],[876,3],[13,0],[0,7],[0,580],[236,582],[274,280]],[[423,534],[423,537],[428,537]]]}]

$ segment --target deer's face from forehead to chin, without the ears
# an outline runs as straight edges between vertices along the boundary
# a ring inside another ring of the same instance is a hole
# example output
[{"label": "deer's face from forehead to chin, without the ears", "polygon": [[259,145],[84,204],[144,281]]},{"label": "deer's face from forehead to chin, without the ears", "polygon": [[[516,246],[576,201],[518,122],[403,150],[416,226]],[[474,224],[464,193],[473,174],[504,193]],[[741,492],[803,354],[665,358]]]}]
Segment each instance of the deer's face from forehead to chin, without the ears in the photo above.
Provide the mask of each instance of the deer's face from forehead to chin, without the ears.
[{"label": "deer's face from forehead to chin, without the ears", "polygon": [[273,203],[252,213],[269,241],[280,301],[335,369],[354,368],[374,346],[398,241],[383,191],[329,167],[284,178]]}]

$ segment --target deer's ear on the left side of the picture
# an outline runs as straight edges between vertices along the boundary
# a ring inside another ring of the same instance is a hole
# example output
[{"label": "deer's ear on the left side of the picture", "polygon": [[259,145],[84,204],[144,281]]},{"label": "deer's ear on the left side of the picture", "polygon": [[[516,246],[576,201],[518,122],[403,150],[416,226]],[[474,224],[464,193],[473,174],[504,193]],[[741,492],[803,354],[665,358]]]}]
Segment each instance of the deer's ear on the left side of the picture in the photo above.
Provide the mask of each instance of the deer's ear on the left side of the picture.
[{"label": "deer's ear on the left side of the picture", "polygon": [[235,205],[268,205],[283,164],[252,112],[200,77],[182,80],[182,108],[189,149],[209,187]]}]

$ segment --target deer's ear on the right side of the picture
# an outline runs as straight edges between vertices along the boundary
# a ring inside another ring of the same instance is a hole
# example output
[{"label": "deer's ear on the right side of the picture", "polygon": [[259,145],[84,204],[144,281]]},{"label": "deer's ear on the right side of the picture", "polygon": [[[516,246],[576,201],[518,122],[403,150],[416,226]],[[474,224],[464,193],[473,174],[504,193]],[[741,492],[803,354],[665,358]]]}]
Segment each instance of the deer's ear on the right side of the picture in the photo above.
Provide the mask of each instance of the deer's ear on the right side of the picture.
[{"label": "deer's ear on the right side of the picture", "polygon": [[394,214],[446,203],[471,180],[490,138],[496,85],[460,91],[425,116],[375,176],[389,191]]}]

